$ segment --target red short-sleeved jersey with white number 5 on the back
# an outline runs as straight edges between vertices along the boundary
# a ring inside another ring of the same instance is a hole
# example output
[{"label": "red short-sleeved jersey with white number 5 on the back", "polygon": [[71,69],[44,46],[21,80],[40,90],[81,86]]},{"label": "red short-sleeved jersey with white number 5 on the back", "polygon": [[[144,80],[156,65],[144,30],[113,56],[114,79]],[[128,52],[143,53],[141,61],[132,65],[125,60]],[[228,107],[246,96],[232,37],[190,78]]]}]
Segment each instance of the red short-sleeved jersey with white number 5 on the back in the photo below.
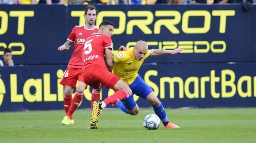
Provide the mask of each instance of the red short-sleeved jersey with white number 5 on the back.
[{"label": "red short-sleeved jersey with white number 5 on the back", "polygon": [[112,40],[109,36],[96,33],[87,38],[82,53],[83,69],[92,65],[102,65],[106,67],[104,61],[105,48],[112,50]]}]

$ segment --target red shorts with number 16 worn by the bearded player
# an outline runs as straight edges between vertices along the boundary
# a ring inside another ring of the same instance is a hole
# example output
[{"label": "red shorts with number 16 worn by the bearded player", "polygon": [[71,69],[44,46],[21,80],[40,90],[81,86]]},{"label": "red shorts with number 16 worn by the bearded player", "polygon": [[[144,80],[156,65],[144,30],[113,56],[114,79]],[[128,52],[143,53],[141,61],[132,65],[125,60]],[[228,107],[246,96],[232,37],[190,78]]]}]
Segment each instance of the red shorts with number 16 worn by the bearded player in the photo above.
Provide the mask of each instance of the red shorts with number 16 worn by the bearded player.
[{"label": "red shorts with number 16 worn by the bearded player", "polygon": [[77,80],[84,82],[82,69],[79,68],[67,68],[61,78],[62,85],[72,86],[75,88],[77,85]]}]

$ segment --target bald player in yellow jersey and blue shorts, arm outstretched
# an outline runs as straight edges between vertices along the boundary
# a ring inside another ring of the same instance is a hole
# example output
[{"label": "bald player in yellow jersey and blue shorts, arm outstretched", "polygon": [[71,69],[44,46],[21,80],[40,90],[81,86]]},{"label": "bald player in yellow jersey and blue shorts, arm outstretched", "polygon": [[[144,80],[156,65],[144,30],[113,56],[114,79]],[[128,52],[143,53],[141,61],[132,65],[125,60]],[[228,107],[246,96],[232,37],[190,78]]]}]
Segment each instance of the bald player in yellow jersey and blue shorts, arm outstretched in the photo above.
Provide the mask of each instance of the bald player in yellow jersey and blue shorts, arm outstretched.
[{"label": "bald player in yellow jersey and blue shorts, arm outstretched", "polygon": [[[148,86],[146,82],[143,81],[143,79],[138,74],[138,71],[148,56],[177,54],[183,49],[177,48],[175,50],[148,50],[148,45],[145,41],[138,41],[133,48],[126,49],[123,47],[121,49],[123,49],[123,51],[119,51],[113,56],[114,65],[112,72],[119,76],[131,88],[133,94],[136,94],[137,96],[147,100],[152,105],[156,115],[158,115],[158,117],[162,120],[164,127],[179,128],[179,126],[168,121],[162,103],[155,96],[150,86]],[[139,113],[139,107],[134,101],[133,95],[129,98],[117,102],[116,105],[127,114],[137,115]]]}]

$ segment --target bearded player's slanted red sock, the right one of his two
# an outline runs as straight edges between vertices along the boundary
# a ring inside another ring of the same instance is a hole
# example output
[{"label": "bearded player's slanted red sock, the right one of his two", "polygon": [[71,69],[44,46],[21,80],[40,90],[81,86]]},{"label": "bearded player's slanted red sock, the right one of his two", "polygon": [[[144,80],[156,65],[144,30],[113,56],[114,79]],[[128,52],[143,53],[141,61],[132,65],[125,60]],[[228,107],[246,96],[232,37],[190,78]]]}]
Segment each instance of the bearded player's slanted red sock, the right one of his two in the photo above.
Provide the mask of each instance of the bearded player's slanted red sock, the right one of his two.
[{"label": "bearded player's slanted red sock, the right one of his two", "polygon": [[67,116],[69,116],[70,119],[73,119],[73,113],[74,111],[77,109],[79,103],[82,101],[83,99],[83,92],[75,92],[75,96],[71,101],[71,105],[69,108],[69,111],[67,112]]}]

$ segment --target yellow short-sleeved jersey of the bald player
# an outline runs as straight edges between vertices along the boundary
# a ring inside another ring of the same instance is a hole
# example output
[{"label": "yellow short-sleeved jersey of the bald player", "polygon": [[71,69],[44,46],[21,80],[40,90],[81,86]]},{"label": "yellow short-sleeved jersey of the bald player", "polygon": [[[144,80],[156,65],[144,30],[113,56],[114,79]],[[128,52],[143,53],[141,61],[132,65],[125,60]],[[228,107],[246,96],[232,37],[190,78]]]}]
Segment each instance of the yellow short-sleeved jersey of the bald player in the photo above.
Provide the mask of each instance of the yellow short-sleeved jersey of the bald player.
[{"label": "yellow short-sleeved jersey of the bald player", "polygon": [[120,77],[127,85],[131,85],[136,79],[140,66],[150,56],[150,50],[148,50],[143,59],[138,61],[133,54],[133,50],[134,47],[114,54],[115,64],[112,73]]}]

